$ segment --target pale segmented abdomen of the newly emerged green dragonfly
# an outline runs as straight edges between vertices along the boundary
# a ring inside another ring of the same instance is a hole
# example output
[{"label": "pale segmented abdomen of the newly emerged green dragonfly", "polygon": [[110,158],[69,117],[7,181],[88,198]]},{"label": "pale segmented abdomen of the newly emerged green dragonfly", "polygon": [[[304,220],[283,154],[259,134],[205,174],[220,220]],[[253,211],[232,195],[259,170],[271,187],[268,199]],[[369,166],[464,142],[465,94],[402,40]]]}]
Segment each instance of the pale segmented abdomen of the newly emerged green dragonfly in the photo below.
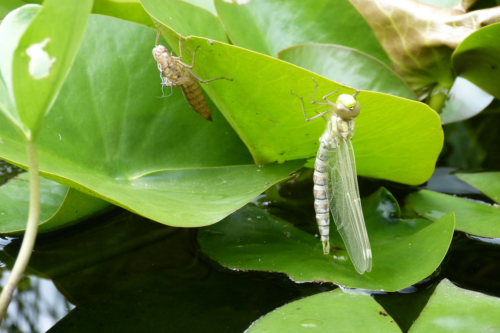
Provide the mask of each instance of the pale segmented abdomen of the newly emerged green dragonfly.
[{"label": "pale segmented abdomen of the newly emerged green dragonfly", "polygon": [[[319,149],[317,150],[314,163],[314,210],[316,211],[316,222],[319,227],[321,241],[329,240],[330,231],[330,208],[326,197],[326,186],[328,181],[328,159],[331,156],[331,137],[327,132],[319,138]],[[325,249],[329,251],[328,249]]]}]

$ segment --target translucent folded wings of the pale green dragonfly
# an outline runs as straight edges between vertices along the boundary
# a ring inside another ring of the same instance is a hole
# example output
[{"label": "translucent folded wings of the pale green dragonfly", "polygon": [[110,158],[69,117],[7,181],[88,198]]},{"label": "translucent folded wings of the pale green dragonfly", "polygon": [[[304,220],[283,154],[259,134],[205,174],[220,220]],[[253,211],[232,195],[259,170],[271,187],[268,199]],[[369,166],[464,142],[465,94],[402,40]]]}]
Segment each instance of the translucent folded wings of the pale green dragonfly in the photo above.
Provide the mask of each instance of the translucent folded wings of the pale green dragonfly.
[{"label": "translucent folded wings of the pale green dragonfly", "polygon": [[340,140],[332,151],[326,191],[331,215],[354,268],[363,274],[371,271],[371,248],[361,211],[352,143]]}]

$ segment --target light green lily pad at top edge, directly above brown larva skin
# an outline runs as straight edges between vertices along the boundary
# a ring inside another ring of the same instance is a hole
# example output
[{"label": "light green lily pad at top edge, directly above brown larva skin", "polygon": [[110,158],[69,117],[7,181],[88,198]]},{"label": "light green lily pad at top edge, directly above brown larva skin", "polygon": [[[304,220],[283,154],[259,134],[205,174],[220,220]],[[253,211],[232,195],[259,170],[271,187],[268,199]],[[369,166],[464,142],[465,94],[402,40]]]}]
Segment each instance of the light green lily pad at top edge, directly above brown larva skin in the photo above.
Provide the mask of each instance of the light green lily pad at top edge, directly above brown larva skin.
[{"label": "light green lily pad at top edge, directly above brown larva skin", "polygon": [[[161,21],[183,36],[193,35],[229,42],[218,17],[205,8],[182,0],[140,0],[140,3],[153,21]],[[168,44],[178,48],[178,35],[173,39],[168,39],[168,35],[163,37]]]}]

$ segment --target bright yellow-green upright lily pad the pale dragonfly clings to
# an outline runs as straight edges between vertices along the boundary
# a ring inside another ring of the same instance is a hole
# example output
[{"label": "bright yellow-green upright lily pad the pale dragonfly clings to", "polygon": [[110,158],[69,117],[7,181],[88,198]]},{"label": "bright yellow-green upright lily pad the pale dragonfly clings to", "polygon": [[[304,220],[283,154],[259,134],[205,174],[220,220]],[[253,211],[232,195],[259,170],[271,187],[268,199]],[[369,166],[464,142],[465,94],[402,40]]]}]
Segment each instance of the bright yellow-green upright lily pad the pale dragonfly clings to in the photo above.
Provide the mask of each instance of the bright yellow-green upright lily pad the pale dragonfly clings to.
[{"label": "bright yellow-green upright lily pad the pale dragonfly clings to", "polygon": [[[157,17],[159,19],[159,17]],[[178,34],[164,24],[166,40]],[[290,63],[206,38],[182,41],[182,54],[189,59],[198,45],[194,72],[203,79],[224,76],[203,84],[228,122],[250,150],[256,163],[283,162],[316,155],[318,138],[324,131],[321,119],[306,122],[300,100],[309,99],[319,82],[317,96],[337,90],[339,83]],[[178,48],[178,42],[171,44]],[[352,94],[342,86],[339,93]],[[335,95],[332,95],[335,100]],[[319,97],[316,97],[319,99]],[[357,96],[361,114],[356,118],[353,145],[359,175],[407,184],[427,180],[442,148],[442,130],[437,113],[427,105],[382,93],[362,91]],[[326,107],[306,104],[306,114]]]}]

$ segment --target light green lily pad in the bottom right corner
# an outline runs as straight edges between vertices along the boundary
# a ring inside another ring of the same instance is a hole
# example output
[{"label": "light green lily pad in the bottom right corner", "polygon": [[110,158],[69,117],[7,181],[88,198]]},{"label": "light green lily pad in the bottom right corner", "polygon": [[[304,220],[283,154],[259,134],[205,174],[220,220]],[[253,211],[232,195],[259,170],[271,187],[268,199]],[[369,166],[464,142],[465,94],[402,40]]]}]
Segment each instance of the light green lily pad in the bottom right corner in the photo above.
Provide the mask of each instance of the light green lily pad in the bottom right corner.
[{"label": "light green lily pad in the bottom right corner", "polygon": [[409,333],[500,332],[500,298],[439,283]]}]

